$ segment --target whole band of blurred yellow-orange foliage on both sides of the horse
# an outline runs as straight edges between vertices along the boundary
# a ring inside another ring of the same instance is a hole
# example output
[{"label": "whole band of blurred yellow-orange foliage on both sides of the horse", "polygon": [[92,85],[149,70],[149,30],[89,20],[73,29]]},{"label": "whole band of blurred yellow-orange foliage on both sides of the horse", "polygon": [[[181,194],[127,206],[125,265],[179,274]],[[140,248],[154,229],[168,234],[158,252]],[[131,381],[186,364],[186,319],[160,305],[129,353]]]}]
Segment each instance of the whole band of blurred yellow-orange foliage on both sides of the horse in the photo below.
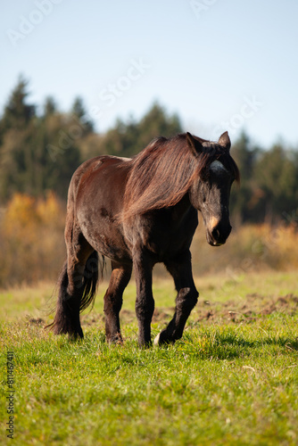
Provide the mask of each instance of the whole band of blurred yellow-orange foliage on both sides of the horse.
[{"label": "whole band of blurred yellow-orange foliage on both sides of the horse", "polygon": [[[65,204],[50,192],[46,198],[15,194],[0,219],[0,285],[55,280],[65,258]],[[228,271],[238,277],[253,269],[298,268],[298,228],[247,225],[232,231],[227,244],[206,243],[200,225],[192,244],[194,275]],[[164,274],[164,269],[158,268]]]}]

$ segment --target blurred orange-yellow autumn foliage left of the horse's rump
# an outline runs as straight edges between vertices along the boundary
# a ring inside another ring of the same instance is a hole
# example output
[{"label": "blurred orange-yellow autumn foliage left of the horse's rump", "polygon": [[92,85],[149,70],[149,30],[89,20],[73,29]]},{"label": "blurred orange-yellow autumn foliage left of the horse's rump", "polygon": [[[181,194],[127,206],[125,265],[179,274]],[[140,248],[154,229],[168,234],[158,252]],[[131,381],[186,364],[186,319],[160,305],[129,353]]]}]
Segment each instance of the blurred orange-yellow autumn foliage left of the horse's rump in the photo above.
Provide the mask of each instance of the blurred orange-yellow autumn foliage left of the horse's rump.
[{"label": "blurred orange-yellow autumn foliage left of the horse's rump", "polygon": [[14,194],[1,216],[0,285],[54,279],[65,256],[64,205],[53,193]]}]

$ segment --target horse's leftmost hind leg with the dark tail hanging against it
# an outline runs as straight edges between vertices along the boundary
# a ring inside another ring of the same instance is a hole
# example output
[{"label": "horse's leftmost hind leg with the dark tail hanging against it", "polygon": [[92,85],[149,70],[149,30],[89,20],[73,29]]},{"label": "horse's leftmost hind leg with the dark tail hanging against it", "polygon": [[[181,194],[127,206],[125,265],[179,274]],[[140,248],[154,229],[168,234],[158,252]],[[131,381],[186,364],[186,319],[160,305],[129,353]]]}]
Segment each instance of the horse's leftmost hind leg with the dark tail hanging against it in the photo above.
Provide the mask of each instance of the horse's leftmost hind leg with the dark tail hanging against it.
[{"label": "horse's leftmost hind leg with the dark tail hanging against it", "polygon": [[[95,265],[97,252],[87,243],[78,227],[73,228],[70,238],[67,234],[66,232],[67,261],[58,282],[59,295],[53,330],[56,335],[68,334],[71,339],[76,339],[78,336],[83,337],[79,311],[82,310],[84,293],[89,293],[88,297],[84,296],[87,301],[85,307],[95,295],[98,278],[98,266]],[[88,270],[90,267],[94,272]]]}]

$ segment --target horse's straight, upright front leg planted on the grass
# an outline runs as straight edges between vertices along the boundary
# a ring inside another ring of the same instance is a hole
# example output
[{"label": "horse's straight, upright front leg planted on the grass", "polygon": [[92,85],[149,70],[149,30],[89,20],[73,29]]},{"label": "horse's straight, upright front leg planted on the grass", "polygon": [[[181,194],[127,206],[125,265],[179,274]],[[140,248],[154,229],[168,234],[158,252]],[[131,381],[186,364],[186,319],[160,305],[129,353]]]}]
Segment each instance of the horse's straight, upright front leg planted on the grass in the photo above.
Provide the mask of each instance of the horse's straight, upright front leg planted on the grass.
[{"label": "horse's straight, upright front leg planted on the grass", "polygon": [[152,292],[153,261],[144,250],[134,250],[134,270],[137,285],[136,313],[138,322],[138,343],[151,345],[151,321],[154,311]]}]

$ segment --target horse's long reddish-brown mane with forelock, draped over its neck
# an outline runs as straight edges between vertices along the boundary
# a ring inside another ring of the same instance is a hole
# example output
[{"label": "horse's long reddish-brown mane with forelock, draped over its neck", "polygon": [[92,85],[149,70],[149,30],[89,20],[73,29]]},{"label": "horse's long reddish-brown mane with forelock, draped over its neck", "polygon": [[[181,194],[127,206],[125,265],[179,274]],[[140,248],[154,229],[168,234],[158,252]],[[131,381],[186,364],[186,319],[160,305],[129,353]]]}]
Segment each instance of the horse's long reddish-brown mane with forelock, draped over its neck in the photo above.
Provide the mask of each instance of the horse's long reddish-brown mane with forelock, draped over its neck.
[{"label": "horse's long reddish-brown mane with forelock, draped over its neck", "polygon": [[239,180],[239,170],[228,151],[217,143],[193,137],[203,145],[203,152],[196,156],[184,133],[169,139],[154,138],[130,161],[122,218],[174,206],[214,160],[221,161]]}]

